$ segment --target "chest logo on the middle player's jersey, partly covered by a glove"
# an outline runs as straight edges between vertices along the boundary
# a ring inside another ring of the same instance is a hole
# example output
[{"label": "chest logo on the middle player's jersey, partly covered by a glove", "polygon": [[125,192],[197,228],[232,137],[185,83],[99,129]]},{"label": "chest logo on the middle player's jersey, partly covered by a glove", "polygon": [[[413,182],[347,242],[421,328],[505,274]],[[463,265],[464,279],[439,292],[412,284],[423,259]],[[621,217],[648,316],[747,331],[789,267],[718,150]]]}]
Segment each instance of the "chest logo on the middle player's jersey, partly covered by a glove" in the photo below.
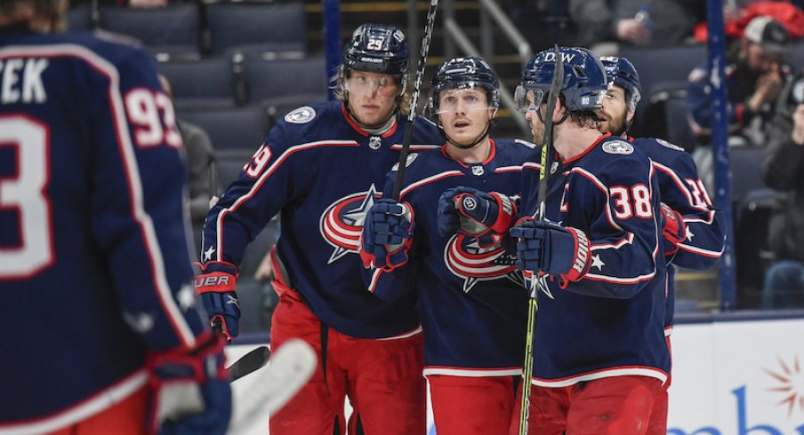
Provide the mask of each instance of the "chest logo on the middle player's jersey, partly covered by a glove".
[{"label": "chest logo on the middle player's jersey, partly covered by a glove", "polygon": [[514,267],[514,258],[502,246],[480,248],[476,238],[465,234],[455,234],[446,242],[444,263],[455,276],[463,278],[466,293],[479,281],[500,278],[525,285],[522,274]]}]

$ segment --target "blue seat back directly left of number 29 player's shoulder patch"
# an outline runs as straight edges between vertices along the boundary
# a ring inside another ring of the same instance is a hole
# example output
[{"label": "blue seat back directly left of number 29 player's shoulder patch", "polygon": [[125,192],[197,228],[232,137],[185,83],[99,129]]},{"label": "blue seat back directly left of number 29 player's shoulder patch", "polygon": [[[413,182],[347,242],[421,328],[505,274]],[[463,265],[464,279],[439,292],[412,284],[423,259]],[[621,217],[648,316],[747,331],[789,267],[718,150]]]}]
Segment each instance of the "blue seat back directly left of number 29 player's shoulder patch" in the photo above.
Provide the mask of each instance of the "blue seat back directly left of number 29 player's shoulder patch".
[{"label": "blue seat back directly left of number 29 player's shoulder patch", "polygon": [[243,149],[253,153],[268,136],[269,118],[265,107],[180,107],[180,119],[203,127],[216,150]]}]

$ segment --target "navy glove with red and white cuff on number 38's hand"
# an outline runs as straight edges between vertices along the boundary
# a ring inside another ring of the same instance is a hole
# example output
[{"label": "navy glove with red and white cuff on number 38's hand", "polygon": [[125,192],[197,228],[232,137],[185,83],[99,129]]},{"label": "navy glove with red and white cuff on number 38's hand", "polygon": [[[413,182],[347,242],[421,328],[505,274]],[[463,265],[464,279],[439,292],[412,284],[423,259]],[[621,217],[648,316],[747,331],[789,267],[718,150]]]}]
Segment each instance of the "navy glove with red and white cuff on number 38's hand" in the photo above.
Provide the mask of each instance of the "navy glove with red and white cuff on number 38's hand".
[{"label": "navy glove with red and white cuff on number 38's hand", "polygon": [[517,241],[517,268],[559,277],[562,289],[580,281],[591,264],[589,239],[583,231],[552,222],[521,218],[511,228]]}]

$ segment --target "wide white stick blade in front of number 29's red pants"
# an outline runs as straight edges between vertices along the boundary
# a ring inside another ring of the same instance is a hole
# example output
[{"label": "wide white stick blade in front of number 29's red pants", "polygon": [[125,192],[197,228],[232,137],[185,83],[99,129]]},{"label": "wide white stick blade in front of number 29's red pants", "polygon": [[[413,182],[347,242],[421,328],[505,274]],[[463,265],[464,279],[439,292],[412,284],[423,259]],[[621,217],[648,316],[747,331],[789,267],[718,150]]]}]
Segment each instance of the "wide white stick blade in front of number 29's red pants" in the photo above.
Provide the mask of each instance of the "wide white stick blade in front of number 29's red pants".
[{"label": "wide white stick blade in front of number 29's red pants", "polygon": [[307,384],[318,366],[310,344],[293,338],[274,352],[267,368],[247,381],[232,385],[234,408],[229,433],[244,433],[257,418],[265,418],[285,406]]}]

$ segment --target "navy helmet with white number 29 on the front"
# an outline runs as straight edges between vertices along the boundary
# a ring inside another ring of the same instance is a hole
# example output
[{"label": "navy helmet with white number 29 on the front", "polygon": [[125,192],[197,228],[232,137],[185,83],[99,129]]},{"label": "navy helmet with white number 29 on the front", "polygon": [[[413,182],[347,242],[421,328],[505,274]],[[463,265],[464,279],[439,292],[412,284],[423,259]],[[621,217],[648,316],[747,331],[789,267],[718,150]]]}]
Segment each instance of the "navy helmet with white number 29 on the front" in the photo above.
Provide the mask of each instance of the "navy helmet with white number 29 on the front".
[{"label": "navy helmet with white number 29 on the front", "polygon": [[385,24],[364,24],[343,46],[342,65],[347,71],[404,75],[409,57],[402,30]]}]

